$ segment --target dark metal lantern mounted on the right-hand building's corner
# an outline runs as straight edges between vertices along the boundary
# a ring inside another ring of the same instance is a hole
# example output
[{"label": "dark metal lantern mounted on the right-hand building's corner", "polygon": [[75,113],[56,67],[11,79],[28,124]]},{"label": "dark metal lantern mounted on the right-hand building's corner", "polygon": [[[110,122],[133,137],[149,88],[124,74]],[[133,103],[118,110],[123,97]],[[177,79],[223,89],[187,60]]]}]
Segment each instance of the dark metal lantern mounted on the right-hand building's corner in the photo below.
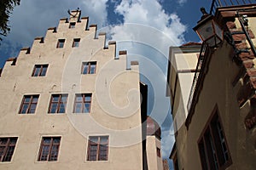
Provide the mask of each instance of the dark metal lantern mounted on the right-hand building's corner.
[{"label": "dark metal lantern mounted on the right-hand building's corner", "polygon": [[196,31],[201,41],[206,42],[209,47],[217,47],[224,40],[224,31],[211,14],[207,14],[205,8],[201,8],[201,20],[193,29]]}]

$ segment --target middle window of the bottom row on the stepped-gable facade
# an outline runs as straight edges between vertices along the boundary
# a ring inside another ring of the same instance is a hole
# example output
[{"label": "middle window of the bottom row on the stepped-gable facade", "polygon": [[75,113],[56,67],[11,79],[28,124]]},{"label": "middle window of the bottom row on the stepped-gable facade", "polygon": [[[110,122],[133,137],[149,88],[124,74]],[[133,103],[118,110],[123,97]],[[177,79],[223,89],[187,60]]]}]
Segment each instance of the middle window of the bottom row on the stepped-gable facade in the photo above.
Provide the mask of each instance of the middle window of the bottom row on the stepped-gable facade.
[{"label": "middle window of the bottom row on the stepped-gable facade", "polygon": [[61,137],[43,137],[38,161],[57,161],[60,149]]}]

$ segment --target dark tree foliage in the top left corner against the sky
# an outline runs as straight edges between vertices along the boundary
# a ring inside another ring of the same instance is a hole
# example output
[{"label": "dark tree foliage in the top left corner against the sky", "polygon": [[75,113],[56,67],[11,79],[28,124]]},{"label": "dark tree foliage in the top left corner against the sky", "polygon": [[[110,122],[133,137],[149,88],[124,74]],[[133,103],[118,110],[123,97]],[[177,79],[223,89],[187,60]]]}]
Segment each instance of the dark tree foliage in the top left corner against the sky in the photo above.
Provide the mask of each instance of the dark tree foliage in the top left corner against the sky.
[{"label": "dark tree foliage in the top left corner against the sky", "polygon": [[[20,0],[0,0],[0,36],[6,36],[9,33],[9,14],[16,5],[20,5]],[[2,41],[1,37],[0,41]]]}]

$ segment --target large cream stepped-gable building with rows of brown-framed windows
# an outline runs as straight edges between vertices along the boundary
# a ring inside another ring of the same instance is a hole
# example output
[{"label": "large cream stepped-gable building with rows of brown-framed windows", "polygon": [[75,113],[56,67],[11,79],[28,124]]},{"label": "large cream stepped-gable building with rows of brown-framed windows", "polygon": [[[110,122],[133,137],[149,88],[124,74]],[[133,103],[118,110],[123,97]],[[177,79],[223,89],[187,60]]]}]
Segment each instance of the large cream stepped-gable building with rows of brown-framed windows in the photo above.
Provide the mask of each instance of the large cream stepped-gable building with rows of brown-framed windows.
[{"label": "large cream stepped-gable building with rows of brown-framed windows", "polygon": [[162,169],[138,62],[127,69],[126,51],[80,15],[6,61],[0,169]]}]

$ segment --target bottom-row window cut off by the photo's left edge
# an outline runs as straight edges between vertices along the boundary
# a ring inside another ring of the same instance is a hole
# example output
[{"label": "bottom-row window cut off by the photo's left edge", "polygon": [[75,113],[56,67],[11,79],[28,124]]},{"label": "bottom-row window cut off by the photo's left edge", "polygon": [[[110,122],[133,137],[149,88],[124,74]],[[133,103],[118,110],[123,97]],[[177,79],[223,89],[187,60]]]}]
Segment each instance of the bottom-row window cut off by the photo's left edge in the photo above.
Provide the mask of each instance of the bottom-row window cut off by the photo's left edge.
[{"label": "bottom-row window cut off by the photo's left edge", "polygon": [[11,161],[17,139],[17,137],[0,138],[0,161]]}]

